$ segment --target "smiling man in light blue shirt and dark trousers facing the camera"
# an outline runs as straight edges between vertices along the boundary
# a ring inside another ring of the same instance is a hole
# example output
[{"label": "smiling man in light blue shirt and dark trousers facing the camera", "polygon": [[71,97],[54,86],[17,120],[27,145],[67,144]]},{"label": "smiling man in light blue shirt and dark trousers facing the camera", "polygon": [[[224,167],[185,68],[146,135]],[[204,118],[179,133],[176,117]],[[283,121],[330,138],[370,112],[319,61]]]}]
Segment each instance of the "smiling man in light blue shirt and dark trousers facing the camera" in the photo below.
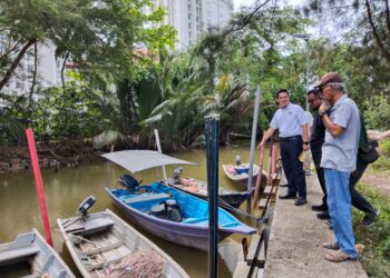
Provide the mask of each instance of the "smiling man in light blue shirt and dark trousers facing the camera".
[{"label": "smiling man in light blue shirt and dark trousers facing the camera", "polygon": [[290,93],[286,89],[279,90],[275,100],[279,103],[279,109],[257,148],[264,149],[265,142],[279,129],[282,163],[289,182],[287,193],[279,198],[295,199],[298,192],[299,198],[295,200],[295,206],[302,206],[308,202],[306,180],[303,163],[299,157],[302,150],[309,150],[308,117],[300,106],[290,102]]}]

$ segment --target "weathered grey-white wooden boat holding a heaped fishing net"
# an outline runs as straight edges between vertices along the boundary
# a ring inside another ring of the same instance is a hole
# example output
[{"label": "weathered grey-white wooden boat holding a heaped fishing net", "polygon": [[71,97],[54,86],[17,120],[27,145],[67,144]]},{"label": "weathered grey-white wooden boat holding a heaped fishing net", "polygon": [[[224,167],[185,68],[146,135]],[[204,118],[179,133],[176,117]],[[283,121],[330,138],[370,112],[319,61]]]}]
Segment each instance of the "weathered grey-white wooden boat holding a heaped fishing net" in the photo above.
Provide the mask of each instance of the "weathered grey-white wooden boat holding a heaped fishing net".
[{"label": "weathered grey-white wooden boat holding a heaped fishing net", "polygon": [[[175,260],[109,209],[58,219],[69,252],[82,277],[188,277]],[[160,274],[160,275],[158,275]],[[120,276],[123,275],[123,276]]]}]

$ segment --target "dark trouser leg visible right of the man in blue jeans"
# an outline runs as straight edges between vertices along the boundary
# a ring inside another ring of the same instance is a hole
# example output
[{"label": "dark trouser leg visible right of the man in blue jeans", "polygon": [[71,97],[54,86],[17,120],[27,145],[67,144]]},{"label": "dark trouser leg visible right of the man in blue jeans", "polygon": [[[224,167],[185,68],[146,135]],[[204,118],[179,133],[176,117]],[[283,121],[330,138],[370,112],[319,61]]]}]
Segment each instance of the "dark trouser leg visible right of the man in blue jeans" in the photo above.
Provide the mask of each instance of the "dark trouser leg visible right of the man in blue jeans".
[{"label": "dark trouser leg visible right of the man in blue jeans", "polygon": [[360,178],[363,176],[365,169],[367,169],[365,163],[359,163],[357,165],[357,171],[355,175],[351,173],[350,177],[350,192],[351,192],[351,199],[352,199],[352,206],[355,207],[357,209],[367,212],[367,214],[373,214],[376,215],[377,211],[376,209],[371,206],[371,203],[361,195],[354,188]]}]

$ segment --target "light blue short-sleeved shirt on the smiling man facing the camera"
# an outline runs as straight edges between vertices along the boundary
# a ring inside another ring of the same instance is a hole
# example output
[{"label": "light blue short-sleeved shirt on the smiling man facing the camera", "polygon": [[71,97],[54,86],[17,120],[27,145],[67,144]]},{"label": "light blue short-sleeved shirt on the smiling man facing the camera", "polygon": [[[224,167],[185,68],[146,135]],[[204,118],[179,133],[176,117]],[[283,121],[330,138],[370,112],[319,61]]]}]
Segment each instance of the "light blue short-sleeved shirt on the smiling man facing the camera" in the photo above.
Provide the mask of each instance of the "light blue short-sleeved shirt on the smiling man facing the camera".
[{"label": "light blue short-sleeved shirt on the smiling man facing the camera", "polygon": [[274,113],[270,127],[279,129],[279,136],[286,138],[302,136],[302,126],[308,123],[308,117],[302,107],[291,103],[285,108],[279,108]]}]

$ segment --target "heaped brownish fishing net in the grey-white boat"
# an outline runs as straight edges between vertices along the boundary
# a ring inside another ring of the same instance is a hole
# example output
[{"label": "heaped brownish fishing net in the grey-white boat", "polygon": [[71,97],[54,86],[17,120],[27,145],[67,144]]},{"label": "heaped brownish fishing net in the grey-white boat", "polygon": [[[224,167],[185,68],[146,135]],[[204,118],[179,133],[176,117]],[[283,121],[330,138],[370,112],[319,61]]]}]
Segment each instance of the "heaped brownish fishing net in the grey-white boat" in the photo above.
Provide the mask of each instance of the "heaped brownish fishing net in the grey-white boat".
[{"label": "heaped brownish fishing net in the grey-white boat", "polygon": [[165,259],[154,250],[139,250],[109,270],[107,278],[159,278]]}]

